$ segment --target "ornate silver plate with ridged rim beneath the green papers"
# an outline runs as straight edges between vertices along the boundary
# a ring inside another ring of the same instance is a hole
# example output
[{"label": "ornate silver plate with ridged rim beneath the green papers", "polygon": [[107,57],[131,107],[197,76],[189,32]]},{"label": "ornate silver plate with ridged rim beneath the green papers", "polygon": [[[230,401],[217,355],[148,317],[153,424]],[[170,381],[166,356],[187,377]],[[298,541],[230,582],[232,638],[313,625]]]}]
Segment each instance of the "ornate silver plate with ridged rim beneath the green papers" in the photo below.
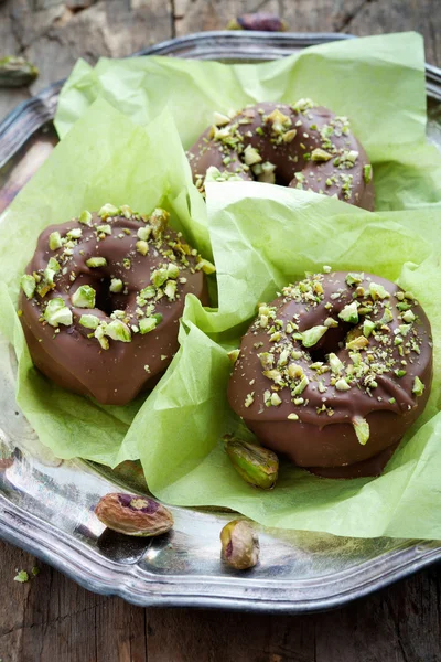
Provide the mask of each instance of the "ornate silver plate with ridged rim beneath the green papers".
[{"label": "ornate silver plate with ridged rim beneath the green papers", "polygon": [[[224,62],[273,60],[334,34],[206,32],[139,54]],[[21,104],[0,125],[0,211],[50,153],[62,83]],[[428,134],[441,145],[441,71],[427,66]],[[219,559],[230,515],[172,508],[165,537],[131,540],[105,531],[93,514],[119,490],[110,470],[61,461],[43,447],[14,402],[15,360],[0,340],[0,537],[62,570],[85,588],[140,606],[197,606],[304,612],[341,606],[441,558],[441,544],[359,540],[260,527],[261,563],[237,574]],[[133,474],[135,480],[135,474]],[[136,483],[126,489],[139,491]]]}]

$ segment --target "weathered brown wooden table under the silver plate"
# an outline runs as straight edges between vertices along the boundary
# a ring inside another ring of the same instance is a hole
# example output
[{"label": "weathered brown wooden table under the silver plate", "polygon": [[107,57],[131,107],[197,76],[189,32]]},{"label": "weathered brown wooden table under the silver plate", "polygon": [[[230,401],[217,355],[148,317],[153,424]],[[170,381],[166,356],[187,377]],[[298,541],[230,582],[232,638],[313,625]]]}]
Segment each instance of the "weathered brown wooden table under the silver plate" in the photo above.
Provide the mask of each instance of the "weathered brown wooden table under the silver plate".
[{"label": "weathered brown wooden table under the silver plate", "polygon": [[[417,30],[441,66],[440,0],[7,0],[2,54],[41,70],[31,89],[0,90],[0,118],[66,76],[77,57],[128,55],[148,44],[218,30],[252,11],[297,32],[365,35]],[[13,581],[17,569],[40,574]],[[336,611],[254,616],[141,609],[87,592],[32,556],[0,543],[1,662],[439,662],[441,568],[432,567]]]}]

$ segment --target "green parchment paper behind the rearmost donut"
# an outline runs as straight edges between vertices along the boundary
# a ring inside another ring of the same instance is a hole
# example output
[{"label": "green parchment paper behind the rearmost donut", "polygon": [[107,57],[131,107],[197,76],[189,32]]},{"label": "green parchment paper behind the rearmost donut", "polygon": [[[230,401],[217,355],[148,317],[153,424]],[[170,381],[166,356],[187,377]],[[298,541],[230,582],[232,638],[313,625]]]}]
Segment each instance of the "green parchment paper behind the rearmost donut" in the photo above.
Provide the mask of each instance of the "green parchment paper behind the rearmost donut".
[{"label": "green parchment paper behind the rearmost donut", "polygon": [[346,115],[374,166],[377,210],[438,205],[441,159],[426,141],[424,53],[412,32],[322,44],[263,64],[175,57],[79,61],[65,84],[55,125],[63,138],[97,97],[136,124],[170,108],[189,148],[213,111],[310,97]]}]

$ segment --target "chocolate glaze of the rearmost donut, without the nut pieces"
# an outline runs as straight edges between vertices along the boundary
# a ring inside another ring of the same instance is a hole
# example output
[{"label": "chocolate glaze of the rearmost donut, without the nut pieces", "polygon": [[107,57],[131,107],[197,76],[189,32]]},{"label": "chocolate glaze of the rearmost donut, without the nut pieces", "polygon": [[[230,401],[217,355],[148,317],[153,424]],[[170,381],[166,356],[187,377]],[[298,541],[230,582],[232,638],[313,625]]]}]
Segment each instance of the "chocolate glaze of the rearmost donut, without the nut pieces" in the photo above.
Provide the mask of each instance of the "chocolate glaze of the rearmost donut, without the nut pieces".
[{"label": "chocolate glaze of the rearmost donut, without the nut pieces", "polygon": [[[271,124],[265,119],[275,109],[289,117],[291,121],[289,128],[297,130],[291,142],[275,142]],[[336,195],[345,202],[372,211],[374,184],[372,179],[366,183],[364,178],[364,167],[369,164],[369,160],[363,146],[346,128],[347,119],[342,119],[344,121],[340,121],[340,118],[322,106],[305,108],[304,111],[295,110],[294,107],[286,104],[272,103],[247,107],[233,117],[227,125],[238,138],[237,145],[232,147],[220,139],[214,139],[213,127],[208,127],[189,150],[193,179],[196,185],[202,188],[205,173],[211,166],[220,172],[235,173],[244,180],[259,179],[254,174],[252,168],[245,164],[244,151],[251,146],[258,150],[262,162],[268,161],[276,166],[276,183]],[[324,127],[331,127],[333,130],[329,139],[323,138]],[[342,127],[345,132],[342,132]],[[305,158],[305,154],[311,154],[314,149],[325,149],[333,154],[333,158],[322,162]],[[338,168],[334,161],[343,150],[354,150],[358,156],[354,164],[346,163],[347,167]],[[224,161],[226,157],[230,159],[228,163]],[[329,178],[333,177],[336,181],[330,182]],[[347,177],[352,178],[348,189],[345,188]]]}]

